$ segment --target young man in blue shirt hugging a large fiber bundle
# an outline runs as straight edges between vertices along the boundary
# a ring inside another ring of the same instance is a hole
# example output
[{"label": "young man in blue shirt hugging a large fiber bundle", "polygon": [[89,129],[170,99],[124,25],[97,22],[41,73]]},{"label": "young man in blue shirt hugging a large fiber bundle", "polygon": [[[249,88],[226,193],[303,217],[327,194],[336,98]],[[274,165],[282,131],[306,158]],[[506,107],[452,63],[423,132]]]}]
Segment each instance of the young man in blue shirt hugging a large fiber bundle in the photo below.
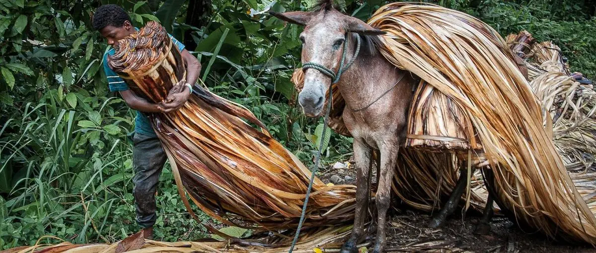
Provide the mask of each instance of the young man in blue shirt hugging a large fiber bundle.
[{"label": "young man in blue shirt hugging a large fiber bundle", "polygon": [[[138,30],[132,26],[131,18],[126,11],[113,4],[103,5],[95,11],[93,28],[101,33],[110,46]],[[119,92],[126,104],[137,111],[132,149],[132,163],[135,170],[133,192],[136,223],[142,227],[147,239],[153,238],[153,225],[157,220],[155,193],[159,175],[166,163],[166,154],[145,113],[169,113],[178,110],[187,101],[192,85],[197,82],[201,72],[201,64],[197,58],[184,49],[184,45],[172,35],[170,38],[174,45],[178,46],[182,52],[182,58],[187,63],[187,82],[182,80],[177,85],[185,85],[188,88],[184,88],[182,92],[170,94],[167,101],[159,104],[147,101],[129,90],[124,80],[108,67],[107,57],[114,54],[113,48],[105,53],[103,60],[110,91]]]}]

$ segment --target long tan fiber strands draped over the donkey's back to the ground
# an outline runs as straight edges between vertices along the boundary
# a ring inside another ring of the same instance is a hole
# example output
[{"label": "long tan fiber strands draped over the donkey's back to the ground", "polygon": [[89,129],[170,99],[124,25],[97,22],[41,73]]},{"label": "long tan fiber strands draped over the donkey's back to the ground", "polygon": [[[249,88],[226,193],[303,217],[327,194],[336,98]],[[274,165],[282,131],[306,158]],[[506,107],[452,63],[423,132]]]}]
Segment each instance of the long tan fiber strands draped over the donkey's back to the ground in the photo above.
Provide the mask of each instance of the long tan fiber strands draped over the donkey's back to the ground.
[{"label": "long tan fiber strands draped over the donkey's back to the ground", "polygon": [[468,115],[495,174],[501,208],[549,236],[562,230],[567,239],[596,243],[596,217],[567,174],[540,103],[495,30],[458,11],[404,3],[381,7],[368,24],[387,32],[381,48],[387,60],[417,74]]}]

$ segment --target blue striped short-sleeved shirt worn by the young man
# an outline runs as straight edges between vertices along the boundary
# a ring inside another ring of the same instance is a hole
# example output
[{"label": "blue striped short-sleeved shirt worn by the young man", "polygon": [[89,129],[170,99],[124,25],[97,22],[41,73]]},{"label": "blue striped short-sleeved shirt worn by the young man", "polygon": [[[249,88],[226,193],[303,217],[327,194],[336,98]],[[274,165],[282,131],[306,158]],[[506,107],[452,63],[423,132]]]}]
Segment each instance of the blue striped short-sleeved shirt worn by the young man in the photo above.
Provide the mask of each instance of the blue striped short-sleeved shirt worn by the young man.
[{"label": "blue striped short-sleeved shirt worn by the young man", "polygon": [[[135,29],[139,30],[136,27],[135,27]],[[173,38],[172,35],[170,35],[170,38],[172,39],[172,42],[174,43],[174,45],[178,46],[178,49],[180,49],[180,51],[182,52],[182,49],[184,49],[184,44],[180,43],[177,39]],[[120,76],[118,76],[118,74],[116,74],[116,72],[114,72],[114,70],[112,70],[110,67],[108,67],[108,61],[107,61],[108,55],[113,55],[114,52],[116,52],[116,50],[114,48],[110,48],[110,50],[108,50],[104,54],[103,64],[104,64],[105,76],[108,79],[108,86],[110,87],[111,92],[119,92],[119,91],[123,91],[123,90],[128,90],[128,85],[126,85],[126,82],[124,81],[124,79],[120,78]],[[147,118],[147,115],[141,113],[140,111],[136,112],[135,133],[141,133],[142,135],[153,136],[153,137],[157,136],[155,131],[153,130],[153,127],[151,127],[151,123],[149,123],[149,118]]]}]

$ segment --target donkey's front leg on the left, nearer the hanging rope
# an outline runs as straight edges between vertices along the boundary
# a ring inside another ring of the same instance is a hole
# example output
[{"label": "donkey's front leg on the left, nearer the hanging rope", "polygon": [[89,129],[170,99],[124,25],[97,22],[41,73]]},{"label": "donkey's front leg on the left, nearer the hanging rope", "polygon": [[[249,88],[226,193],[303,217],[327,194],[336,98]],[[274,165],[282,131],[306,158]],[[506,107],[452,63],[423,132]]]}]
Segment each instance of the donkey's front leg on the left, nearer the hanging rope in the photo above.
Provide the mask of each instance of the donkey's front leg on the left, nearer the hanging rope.
[{"label": "donkey's front leg on the left, nearer the hanging rope", "polygon": [[368,189],[370,170],[371,149],[366,145],[364,139],[354,138],[354,160],[356,160],[356,168],[358,174],[356,175],[356,213],[354,215],[354,227],[352,228],[352,235],[350,239],[342,246],[341,253],[358,252],[358,239],[362,236],[364,230],[364,221],[366,220],[368,210],[368,197],[370,192]]}]

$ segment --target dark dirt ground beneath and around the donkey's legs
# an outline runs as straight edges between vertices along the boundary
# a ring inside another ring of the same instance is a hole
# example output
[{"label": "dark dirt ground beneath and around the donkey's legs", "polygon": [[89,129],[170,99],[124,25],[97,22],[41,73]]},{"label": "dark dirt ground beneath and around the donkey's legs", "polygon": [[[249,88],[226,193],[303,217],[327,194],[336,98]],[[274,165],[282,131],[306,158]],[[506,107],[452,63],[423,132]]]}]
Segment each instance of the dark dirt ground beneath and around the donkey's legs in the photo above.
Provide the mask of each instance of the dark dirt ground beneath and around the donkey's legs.
[{"label": "dark dirt ground beneath and around the donkey's legs", "polygon": [[[353,161],[348,162],[353,164]],[[346,165],[345,162],[343,164]],[[328,183],[333,175],[336,175],[336,180],[340,179],[337,184],[354,184],[356,181],[355,170],[343,168],[341,164],[337,164],[336,168],[332,165],[322,169],[319,178]],[[504,217],[493,218],[488,235],[474,235],[479,215],[462,217],[454,214],[441,228],[431,229],[427,225],[429,214],[415,210],[391,210],[390,213],[387,252],[596,252],[596,247],[591,245],[555,242],[541,233],[523,232]],[[367,238],[368,249],[373,248],[374,237],[370,235]]]}]

